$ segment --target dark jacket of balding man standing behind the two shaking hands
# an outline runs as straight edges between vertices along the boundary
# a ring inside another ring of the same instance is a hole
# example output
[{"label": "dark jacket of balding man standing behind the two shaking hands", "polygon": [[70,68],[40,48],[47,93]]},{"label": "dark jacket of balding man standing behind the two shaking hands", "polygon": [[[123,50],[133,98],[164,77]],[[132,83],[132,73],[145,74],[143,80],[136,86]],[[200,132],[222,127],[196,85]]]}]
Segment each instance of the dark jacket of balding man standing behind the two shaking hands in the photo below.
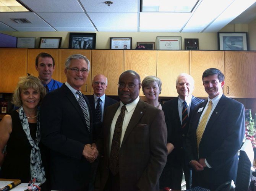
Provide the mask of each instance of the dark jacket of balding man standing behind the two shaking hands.
[{"label": "dark jacket of balding man standing behind the two shaking hands", "polygon": [[[96,120],[96,110],[95,110],[95,103],[94,103],[94,97],[93,95],[88,97],[89,100],[89,104],[91,106],[91,110],[92,110],[92,118],[93,118],[93,124],[94,124],[94,132],[93,132],[93,138],[96,140],[97,137],[99,136],[99,134],[101,133],[101,129],[102,129],[102,122],[97,123]],[[117,100],[112,99],[110,97],[107,97],[107,95],[105,95],[105,104],[104,104],[104,112],[103,112],[103,116],[105,115],[106,109],[108,106],[117,103]]]}]

